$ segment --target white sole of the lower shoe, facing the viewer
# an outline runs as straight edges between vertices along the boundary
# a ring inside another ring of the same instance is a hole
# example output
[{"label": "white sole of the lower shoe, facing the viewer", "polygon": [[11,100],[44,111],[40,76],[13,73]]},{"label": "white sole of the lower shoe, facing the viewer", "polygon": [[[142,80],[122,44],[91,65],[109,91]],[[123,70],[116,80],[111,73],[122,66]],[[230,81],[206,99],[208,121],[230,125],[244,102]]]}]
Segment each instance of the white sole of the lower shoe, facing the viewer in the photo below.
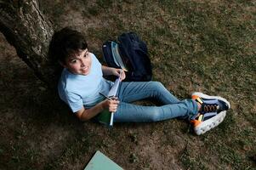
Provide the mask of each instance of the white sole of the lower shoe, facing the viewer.
[{"label": "white sole of the lower shoe, facing the viewer", "polygon": [[226,115],[226,111],[219,112],[218,115],[213,116],[211,119],[207,121],[201,122],[199,125],[194,127],[194,131],[197,135],[201,135],[203,133],[208,132],[213,127],[217,127],[219,123],[223,122]]}]

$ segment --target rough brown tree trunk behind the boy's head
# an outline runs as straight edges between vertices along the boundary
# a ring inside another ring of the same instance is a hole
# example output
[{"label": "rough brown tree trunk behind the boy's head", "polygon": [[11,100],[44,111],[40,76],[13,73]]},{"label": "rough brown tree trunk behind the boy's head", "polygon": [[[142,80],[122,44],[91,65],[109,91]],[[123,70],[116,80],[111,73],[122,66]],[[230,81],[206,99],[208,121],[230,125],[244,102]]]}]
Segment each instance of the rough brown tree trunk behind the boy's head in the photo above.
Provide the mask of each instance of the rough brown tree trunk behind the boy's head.
[{"label": "rough brown tree trunk behind the boy's head", "polygon": [[0,31],[36,76],[54,88],[60,69],[48,57],[54,31],[37,0],[0,0]]}]

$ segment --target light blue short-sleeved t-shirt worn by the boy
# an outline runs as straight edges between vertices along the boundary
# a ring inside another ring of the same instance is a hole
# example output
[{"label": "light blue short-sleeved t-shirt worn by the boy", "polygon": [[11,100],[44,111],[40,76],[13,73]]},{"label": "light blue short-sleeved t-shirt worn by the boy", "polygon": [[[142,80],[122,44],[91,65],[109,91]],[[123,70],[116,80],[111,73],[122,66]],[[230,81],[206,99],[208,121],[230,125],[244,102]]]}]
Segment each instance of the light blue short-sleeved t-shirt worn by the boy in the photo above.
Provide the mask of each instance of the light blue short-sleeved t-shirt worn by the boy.
[{"label": "light blue short-sleeved t-shirt worn by the boy", "polygon": [[60,99],[70,106],[71,111],[77,112],[85,108],[93,107],[104,99],[99,93],[108,94],[113,82],[105,80],[102,74],[101,64],[94,54],[91,70],[88,75],[73,74],[63,69],[58,84]]}]

